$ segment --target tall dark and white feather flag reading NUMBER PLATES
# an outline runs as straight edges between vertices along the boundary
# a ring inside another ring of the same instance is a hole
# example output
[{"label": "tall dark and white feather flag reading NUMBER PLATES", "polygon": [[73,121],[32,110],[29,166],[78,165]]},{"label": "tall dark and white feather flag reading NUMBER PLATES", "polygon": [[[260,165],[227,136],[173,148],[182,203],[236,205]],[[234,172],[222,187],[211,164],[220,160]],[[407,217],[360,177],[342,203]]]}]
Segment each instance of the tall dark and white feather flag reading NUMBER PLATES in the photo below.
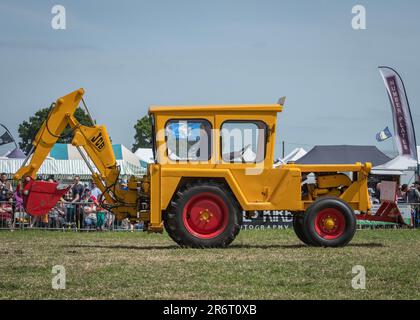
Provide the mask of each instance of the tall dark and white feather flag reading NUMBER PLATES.
[{"label": "tall dark and white feather flag reading NUMBER PLATES", "polygon": [[379,67],[394,118],[394,137],[398,153],[417,161],[417,144],[410,105],[400,75],[390,67]]}]

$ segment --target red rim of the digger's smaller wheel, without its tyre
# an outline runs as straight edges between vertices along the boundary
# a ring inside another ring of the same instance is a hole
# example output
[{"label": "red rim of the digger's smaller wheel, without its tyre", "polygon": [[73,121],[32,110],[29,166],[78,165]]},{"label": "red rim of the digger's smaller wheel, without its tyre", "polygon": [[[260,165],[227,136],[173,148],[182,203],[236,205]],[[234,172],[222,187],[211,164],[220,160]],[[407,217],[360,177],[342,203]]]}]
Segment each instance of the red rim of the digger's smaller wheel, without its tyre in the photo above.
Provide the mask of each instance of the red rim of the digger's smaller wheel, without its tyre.
[{"label": "red rim of the digger's smaller wheel, without its tyre", "polygon": [[315,231],[326,240],[339,238],[346,226],[344,215],[337,209],[326,208],[315,217]]}]

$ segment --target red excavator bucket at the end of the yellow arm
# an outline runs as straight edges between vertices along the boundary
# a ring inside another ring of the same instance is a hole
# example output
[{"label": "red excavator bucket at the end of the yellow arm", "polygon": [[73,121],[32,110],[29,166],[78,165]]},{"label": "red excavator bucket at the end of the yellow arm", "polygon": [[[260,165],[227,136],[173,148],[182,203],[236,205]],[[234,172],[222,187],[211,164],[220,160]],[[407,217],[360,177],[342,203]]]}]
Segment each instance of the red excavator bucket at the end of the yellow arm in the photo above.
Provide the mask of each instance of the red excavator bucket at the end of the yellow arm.
[{"label": "red excavator bucket at the end of the yellow arm", "polygon": [[39,216],[48,213],[71,186],[58,188],[57,182],[35,181],[27,178],[23,187],[23,206],[27,213]]}]

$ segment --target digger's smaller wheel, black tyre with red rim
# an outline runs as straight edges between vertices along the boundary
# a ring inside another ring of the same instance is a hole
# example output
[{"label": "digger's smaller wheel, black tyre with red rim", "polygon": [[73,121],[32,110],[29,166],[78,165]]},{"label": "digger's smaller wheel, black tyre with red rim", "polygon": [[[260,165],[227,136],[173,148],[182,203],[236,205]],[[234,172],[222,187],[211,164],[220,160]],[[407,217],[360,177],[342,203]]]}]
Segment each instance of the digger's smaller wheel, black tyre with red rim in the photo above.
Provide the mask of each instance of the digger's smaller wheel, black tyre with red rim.
[{"label": "digger's smaller wheel, black tyre with red rim", "polygon": [[353,209],[339,198],[320,198],[306,211],[303,233],[315,246],[343,247],[356,232]]}]

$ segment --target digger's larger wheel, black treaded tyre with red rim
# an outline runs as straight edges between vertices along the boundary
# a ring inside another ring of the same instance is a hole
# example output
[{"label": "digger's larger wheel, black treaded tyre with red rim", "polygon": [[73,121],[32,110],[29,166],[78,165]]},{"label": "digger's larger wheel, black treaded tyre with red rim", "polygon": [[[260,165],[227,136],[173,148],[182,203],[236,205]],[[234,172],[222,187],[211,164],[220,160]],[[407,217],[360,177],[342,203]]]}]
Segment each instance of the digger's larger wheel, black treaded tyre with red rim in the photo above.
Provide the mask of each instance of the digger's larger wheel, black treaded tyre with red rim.
[{"label": "digger's larger wheel, black treaded tyre with red rim", "polygon": [[224,184],[193,181],[177,191],[164,225],[169,236],[183,247],[220,248],[238,235],[241,214]]}]

